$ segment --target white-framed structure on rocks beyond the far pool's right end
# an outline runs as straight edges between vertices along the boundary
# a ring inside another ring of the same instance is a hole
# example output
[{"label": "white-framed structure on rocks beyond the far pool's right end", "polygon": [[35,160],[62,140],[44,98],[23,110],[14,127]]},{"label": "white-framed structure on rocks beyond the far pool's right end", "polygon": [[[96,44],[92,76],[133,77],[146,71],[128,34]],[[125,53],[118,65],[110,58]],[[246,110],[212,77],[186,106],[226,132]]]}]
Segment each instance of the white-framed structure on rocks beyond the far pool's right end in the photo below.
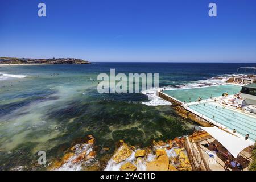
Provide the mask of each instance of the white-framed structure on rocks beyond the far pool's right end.
[{"label": "white-framed structure on rocks beyond the far pool's right end", "polygon": [[[244,69],[244,72],[240,75],[238,75],[238,71],[240,69]],[[251,70],[253,73],[247,74],[246,71]],[[226,82],[233,83],[233,84],[250,84],[256,82],[256,75],[255,75],[256,67],[240,67],[237,68],[237,74],[236,76],[229,77]]]}]

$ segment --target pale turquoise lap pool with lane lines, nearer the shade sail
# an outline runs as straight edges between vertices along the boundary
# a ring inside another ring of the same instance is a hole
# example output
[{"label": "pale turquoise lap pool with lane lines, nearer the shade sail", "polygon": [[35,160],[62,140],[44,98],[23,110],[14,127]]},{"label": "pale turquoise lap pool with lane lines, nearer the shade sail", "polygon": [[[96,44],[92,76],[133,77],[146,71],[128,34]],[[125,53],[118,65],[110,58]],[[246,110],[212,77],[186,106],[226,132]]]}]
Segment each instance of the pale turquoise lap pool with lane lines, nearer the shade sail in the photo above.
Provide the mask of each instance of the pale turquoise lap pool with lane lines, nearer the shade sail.
[{"label": "pale turquoise lap pool with lane lines, nearer the shade sail", "polygon": [[[251,140],[256,139],[256,119],[249,115],[238,113],[224,107],[220,107],[210,103],[189,105],[189,107],[214,121],[221,123],[230,130],[236,129],[237,133],[245,136],[249,134]],[[213,118],[214,116],[214,118]]]}]

